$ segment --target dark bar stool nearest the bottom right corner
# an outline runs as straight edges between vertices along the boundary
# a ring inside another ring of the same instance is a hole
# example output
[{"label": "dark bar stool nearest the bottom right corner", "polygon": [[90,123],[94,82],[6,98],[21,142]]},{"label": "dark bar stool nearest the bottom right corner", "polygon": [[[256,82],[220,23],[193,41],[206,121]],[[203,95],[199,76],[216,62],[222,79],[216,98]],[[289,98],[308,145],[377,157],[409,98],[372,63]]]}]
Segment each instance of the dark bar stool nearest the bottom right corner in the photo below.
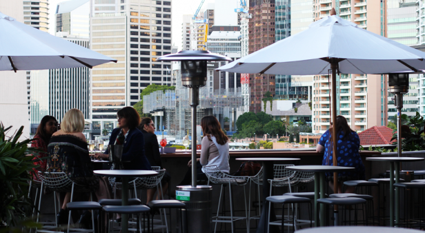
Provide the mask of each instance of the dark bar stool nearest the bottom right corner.
[{"label": "dark bar stool nearest the bottom right corner", "polygon": [[[419,180],[420,181],[420,180]],[[412,183],[395,183],[394,187],[402,188],[404,190],[404,222],[395,223],[395,225],[404,225],[406,227],[419,227],[422,230],[422,221],[424,221],[424,188],[425,183],[423,182],[412,182]],[[411,190],[409,198],[406,197],[406,190]],[[413,190],[417,190],[417,200],[414,203]],[[411,202],[410,207],[408,207],[408,201]],[[417,208],[417,218],[415,218],[415,207]],[[406,209],[409,209],[407,211]],[[408,213],[408,215],[406,215]]]}]

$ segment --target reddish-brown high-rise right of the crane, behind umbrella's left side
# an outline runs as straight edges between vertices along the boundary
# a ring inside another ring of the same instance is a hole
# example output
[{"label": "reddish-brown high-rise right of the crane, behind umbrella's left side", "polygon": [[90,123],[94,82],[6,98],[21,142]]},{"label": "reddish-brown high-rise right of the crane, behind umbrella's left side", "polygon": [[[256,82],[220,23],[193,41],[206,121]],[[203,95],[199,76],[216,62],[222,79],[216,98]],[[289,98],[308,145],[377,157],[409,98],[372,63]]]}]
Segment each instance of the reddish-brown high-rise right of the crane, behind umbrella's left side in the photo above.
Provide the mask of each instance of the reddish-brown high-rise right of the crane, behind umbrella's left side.
[{"label": "reddish-brown high-rise right of the crane, behind umbrella's left side", "polygon": [[[275,0],[250,0],[248,53],[275,43]],[[261,99],[266,92],[275,94],[275,75],[250,74],[250,112],[261,112]]]}]

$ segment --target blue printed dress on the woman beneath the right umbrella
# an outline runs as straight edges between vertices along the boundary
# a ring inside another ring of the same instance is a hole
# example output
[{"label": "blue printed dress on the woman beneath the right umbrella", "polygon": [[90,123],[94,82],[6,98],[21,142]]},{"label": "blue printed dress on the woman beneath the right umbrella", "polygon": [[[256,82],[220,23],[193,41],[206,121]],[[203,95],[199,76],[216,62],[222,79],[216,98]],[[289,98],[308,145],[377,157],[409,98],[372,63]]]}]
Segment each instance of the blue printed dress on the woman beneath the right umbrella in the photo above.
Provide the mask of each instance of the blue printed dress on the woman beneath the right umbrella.
[{"label": "blue printed dress on the woman beneath the right umbrella", "polygon": [[[332,135],[330,135],[332,136]],[[338,177],[341,181],[350,180],[364,180],[366,179],[364,174],[364,165],[362,158],[359,154],[360,139],[356,132],[351,132],[345,139],[344,132],[340,131],[338,134],[337,143],[337,165],[342,167],[355,168],[355,171],[350,172],[339,172]],[[329,130],[322,135],[319,140],[319,144],[324,146],[325,153],[322,161],[322,165],[333,165],[333,145],[329,145]],[[329,156],[330,152],[330,156]],[[329,157],[329,158],[328,158]],[[333,173],[326,173],[326,178],[333,176]]]}]

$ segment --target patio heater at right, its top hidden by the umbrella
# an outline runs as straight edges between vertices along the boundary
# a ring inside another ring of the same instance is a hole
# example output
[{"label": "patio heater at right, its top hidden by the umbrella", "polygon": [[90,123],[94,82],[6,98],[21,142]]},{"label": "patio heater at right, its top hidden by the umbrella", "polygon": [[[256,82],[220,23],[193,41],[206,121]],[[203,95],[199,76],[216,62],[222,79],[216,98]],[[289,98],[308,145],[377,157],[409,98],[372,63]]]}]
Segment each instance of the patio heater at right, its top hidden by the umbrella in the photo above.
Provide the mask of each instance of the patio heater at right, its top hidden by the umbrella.
[{"label": "patio heater at right, its top hidden by the umbrella", "polygon": [[397,154],[402,156],[402,108],[403,94],[408,92],[408,73],[388,74],[388,92],[394,93],[394,105],[397,108]]}]

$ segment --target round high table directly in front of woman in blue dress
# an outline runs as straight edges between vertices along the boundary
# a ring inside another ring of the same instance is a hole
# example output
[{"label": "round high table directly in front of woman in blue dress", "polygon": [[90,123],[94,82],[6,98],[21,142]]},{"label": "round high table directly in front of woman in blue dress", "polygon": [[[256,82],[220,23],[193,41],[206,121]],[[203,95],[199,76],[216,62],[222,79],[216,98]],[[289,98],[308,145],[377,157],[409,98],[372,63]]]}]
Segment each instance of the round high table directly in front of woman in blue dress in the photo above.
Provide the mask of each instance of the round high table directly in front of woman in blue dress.
[{"label": "round high table directly in front of woman in blue dress", "polygon": [[[297,172],[315,172],[315,227],[317,227],[317,219],[319,219],[317,208],[317,199],[325,198],[325,173],[326,172],[346,172],[349,170],[354,170],[355,168],[348,167],[340,167],[340,166],[328,166],[328,165],[302,165],[302,166],[293,166],[286,167],[288,170],[294,170]],[[320,204],[320,226],[323,227],[325,225],[325,208],[323,204]]]}]

